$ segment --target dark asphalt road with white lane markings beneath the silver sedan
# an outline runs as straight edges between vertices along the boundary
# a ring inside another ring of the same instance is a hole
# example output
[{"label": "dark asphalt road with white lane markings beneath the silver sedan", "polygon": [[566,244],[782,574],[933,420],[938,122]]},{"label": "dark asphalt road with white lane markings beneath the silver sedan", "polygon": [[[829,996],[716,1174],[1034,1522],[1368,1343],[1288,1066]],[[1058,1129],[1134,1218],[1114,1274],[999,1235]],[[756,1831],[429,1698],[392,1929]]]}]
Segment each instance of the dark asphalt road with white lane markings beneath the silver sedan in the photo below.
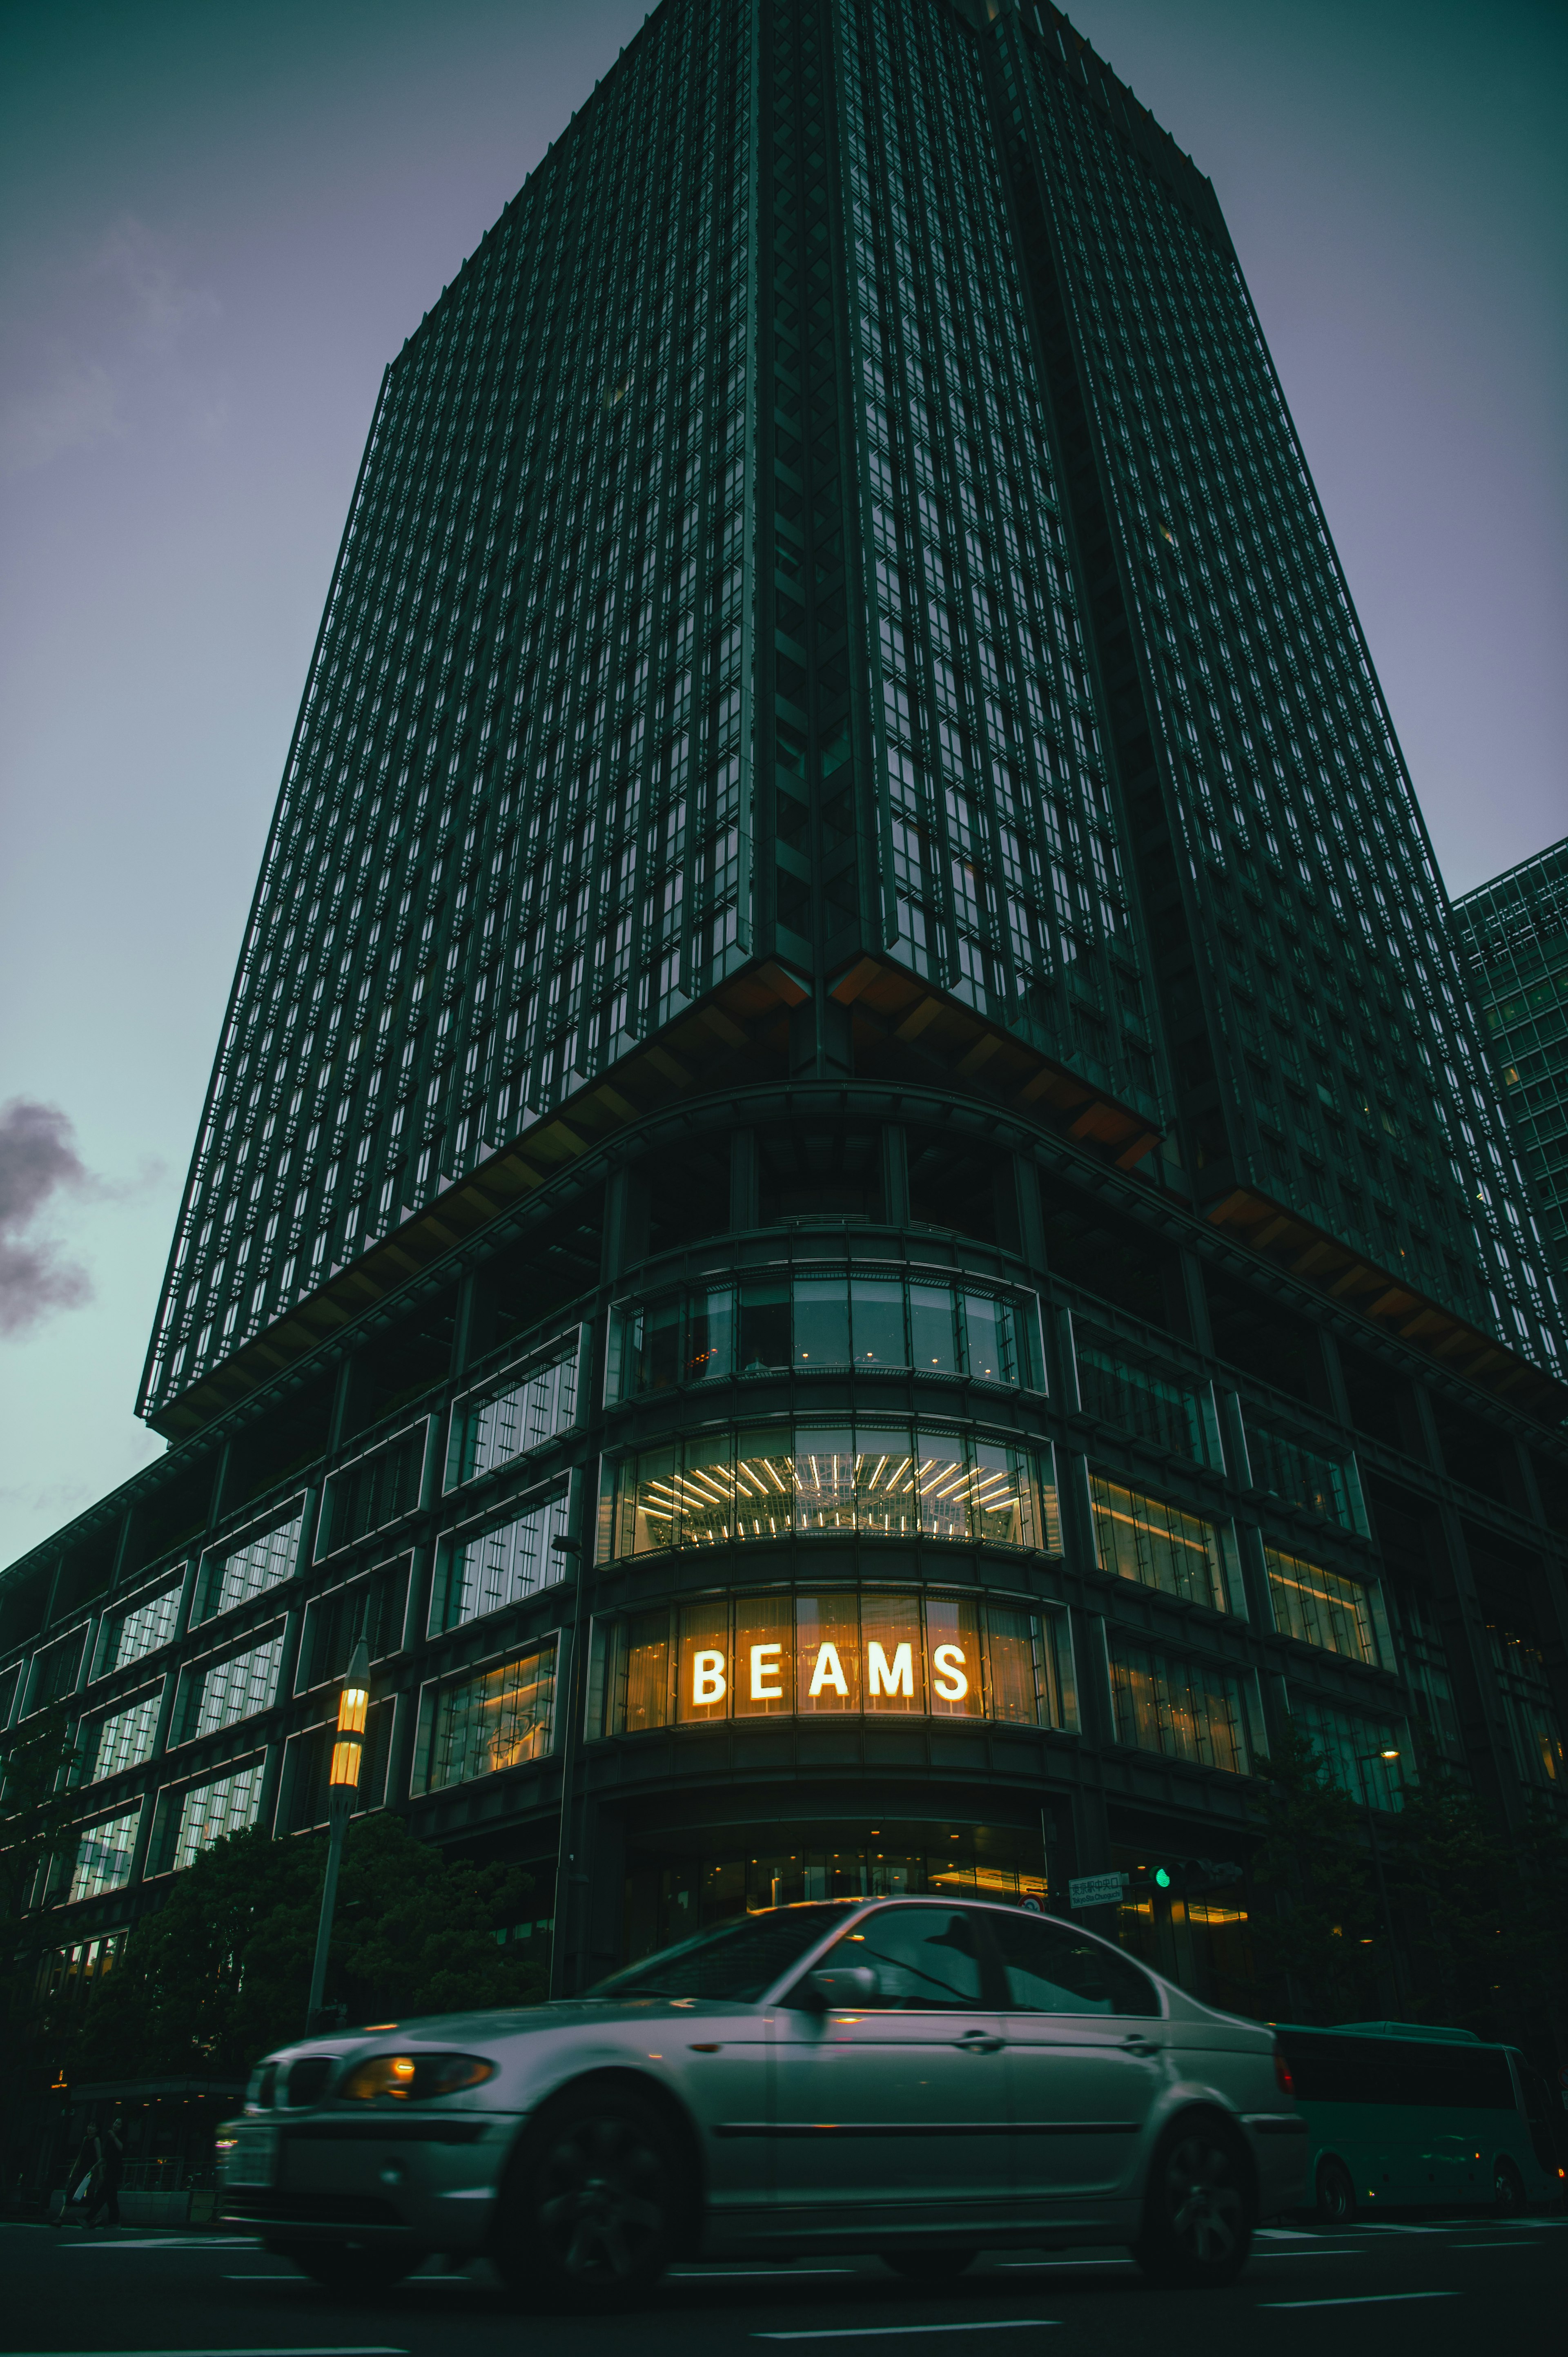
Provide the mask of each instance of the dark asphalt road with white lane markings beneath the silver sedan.
[{"label": "dark asphalt road with white lane markings beneath the silver sedan", "polygon": [[[875,2260],[679,2267],[627,2317],[526,2317],[488,2270],[434,2267],[375,2300],[318,2291],[245,2237],[0,2227],[0,2350],[78,2357],[696,2357],[861,2345],[1037,2348],[1054,2357],[1476,2357],[1566,2345],[1568,2220],[1427,2218],[1337,2232],[1264,2230],[1221,2293],[1151,2291],[1129,2260],[1075,2251],[981,2258],[913,2291]],[[1153,2336],[1158,2333],[1158,2343]],[[990,2338],[995,2336],[995,2341]]]}]

